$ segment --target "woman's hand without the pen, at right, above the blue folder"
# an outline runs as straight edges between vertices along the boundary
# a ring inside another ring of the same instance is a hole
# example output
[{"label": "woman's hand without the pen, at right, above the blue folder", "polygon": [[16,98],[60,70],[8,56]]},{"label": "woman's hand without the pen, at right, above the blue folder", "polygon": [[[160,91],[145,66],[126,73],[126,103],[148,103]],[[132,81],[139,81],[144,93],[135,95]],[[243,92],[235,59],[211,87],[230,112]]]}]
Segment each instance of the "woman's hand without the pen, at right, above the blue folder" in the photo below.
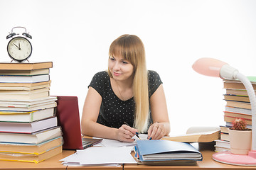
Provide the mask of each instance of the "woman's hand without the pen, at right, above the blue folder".
[{"label": "woman's hand without the pen, at right, above the blue folder", "polygon": [[165,134],[164,124],[156,122],[149,127],[148,139],[160,140],[162,137],[164,137],[164,134]]}]

